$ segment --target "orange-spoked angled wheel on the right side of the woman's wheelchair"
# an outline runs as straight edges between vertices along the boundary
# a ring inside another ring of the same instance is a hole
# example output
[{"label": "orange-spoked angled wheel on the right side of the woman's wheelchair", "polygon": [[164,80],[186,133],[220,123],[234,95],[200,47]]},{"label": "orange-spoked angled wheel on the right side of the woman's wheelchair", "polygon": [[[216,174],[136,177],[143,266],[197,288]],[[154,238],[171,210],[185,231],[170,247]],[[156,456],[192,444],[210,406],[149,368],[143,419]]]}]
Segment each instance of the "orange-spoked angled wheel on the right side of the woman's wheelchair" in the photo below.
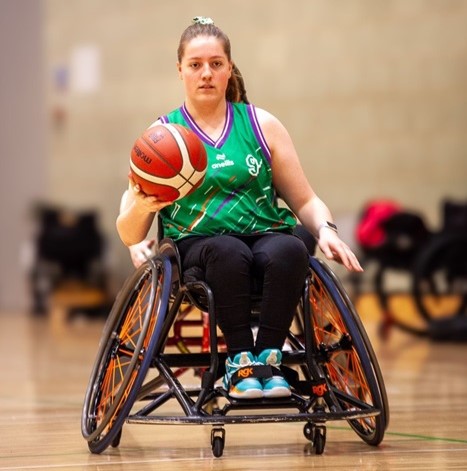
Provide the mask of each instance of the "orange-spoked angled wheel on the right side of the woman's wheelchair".
[{"label": "orange-spoked angled wheel on the right side of the woman's wheelchair", "polygon": [[373,348],[340,281],[321,260],[312,257],[310,264],[312,325],[323,370],[340,408],[369,406],[381,411],[348,420],[363,441],[378,445],[389,422],[389,406]]}]

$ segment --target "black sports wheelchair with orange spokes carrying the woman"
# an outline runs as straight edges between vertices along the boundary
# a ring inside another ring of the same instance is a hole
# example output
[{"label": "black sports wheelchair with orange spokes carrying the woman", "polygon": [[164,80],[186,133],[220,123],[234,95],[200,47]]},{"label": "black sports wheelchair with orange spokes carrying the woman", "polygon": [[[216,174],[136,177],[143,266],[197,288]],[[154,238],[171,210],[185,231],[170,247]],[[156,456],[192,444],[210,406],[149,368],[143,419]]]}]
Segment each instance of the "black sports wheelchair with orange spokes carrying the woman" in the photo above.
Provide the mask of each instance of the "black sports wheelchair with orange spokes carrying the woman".
[{"label": "black sports wheelchair with orange spokes carrying the woman", "polygon": [[[252,296],[254,316],[260,295]],[[183,341],[173,346],[173,326],[187,306],[207,313],[207,351],[191,352]],[[162,239],[126,280],[104,327],[82,411],[89,450],[118,447],[125,423],[209,425],[215,457],[222,456],[230,424],[304,422],[305,438],[321,454],[326,423],[346,420],[364,442],[378,445],[389,406],[375,353],[341,283],[314,256],[293,325],[281,366],[292,395],[231,398],[219,382],[226,353],[213,294],[204,281],[186,279],[176,245]],[[183,386],[187,369],[199,384]],[[169,401],[177,405],[172,415],[160,410]]]}]

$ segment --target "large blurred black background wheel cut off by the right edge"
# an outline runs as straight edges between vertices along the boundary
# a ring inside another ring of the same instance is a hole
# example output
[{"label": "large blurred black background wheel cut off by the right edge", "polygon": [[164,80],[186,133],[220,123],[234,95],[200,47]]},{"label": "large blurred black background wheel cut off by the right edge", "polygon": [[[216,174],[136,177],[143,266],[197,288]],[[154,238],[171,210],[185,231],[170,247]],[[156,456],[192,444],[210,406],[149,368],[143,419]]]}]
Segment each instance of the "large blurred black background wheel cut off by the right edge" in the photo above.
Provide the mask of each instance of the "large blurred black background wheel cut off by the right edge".
[{"label": "large blurred black background wheel cut off by the right edge", "polygon": [[415,261],[412,294],[428,322],[467,314],[467,235],[433,239]]}]

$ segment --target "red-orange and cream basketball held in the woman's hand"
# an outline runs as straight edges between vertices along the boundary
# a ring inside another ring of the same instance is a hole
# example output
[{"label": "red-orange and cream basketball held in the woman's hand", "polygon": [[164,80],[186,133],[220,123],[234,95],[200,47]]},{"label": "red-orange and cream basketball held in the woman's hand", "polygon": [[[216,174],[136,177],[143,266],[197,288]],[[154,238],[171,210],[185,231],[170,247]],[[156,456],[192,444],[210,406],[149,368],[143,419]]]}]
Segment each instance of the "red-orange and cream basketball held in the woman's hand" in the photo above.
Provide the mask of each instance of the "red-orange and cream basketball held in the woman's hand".
[{"label": "red-orange and cream basketball held in the woman's hand", "polygon": [[157,124],[136,140],[130,176],[141,190],[161,201],[179,200],[204,181],[206,149],[199,137],[179,124]]}]

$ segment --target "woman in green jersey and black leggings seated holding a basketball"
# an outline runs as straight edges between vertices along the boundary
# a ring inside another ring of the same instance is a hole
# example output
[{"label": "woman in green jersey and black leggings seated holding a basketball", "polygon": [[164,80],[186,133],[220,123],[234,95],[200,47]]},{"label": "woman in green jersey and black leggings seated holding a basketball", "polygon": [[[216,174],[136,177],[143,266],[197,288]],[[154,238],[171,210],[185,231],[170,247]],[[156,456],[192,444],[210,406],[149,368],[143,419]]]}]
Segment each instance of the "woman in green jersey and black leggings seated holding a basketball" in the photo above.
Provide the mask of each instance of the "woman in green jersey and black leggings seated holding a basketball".
[{"label": "woman in green jersey and black leggings seated holding a basketball", "polygon": [[[141,243],[159,213],[184,271],[201,269],[213,291],[228,349],[224,384],[230,396],[288,396],[290,386],[279,373],[266,379],[235,373],[249,365],[280,365],[308,270],[305,245],[292,234],[296,217],[328,259],[349,270],[362,268],[306,180],[287,130],[249,104],[230,41],[211,19],[197,17],[183,32],[177,67],[185,102],[156,123],[183,124],[198,134],[208,154],[205,182],[180,201],[161,202],[130,181],[119,235],[128,246]],[[277,195],[291,211],[278,206]],[[256,340],[250,325],[253,278],[262,284]]]}]

